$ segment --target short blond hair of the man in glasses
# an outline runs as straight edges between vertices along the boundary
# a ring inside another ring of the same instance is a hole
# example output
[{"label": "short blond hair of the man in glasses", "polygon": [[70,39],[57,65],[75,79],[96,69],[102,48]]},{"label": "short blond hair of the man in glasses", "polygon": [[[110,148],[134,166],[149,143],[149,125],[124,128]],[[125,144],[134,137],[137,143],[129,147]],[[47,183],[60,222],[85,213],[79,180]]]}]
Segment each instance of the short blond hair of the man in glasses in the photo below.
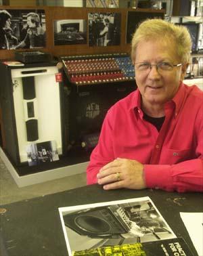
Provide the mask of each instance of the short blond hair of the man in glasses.
[{"label": "short blond hair of the man in glasses", "polygon": [[177,55],[182,64],[190,62],[191,37],[185,26],[175,25],[161,19],[145,20],[133,35],[131,41],[131,58],[135,62],[136,48],[141,41],[150,40],[167,41],[173,40],[177,47]]}]

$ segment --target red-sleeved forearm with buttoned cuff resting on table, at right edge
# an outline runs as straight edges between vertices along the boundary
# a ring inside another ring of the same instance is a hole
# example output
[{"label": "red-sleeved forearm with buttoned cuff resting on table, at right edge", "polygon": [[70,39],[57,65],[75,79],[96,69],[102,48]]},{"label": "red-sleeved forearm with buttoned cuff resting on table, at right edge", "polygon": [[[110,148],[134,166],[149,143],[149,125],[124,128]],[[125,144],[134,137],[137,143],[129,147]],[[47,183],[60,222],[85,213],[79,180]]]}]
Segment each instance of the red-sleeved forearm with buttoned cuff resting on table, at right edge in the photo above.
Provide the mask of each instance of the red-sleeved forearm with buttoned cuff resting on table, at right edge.
[{"label": "red-sleeved forearm with buttoned cuff resting on table, at right edge", "polygon": [[145,165],[148,188],[177,192],[203,192],[203,160],[192,159],[175,165]]}]

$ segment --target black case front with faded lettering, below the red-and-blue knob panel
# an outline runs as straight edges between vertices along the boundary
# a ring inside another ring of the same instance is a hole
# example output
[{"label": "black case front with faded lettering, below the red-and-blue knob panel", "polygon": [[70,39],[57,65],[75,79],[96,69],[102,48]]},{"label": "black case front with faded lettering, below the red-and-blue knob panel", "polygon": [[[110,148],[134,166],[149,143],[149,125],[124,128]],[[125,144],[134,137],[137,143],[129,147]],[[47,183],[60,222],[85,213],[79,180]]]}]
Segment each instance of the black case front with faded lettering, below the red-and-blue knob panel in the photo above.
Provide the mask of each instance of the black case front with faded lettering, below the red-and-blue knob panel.
[{"label": "black case front with faded lettering, below the red-and-blue knob panel", "polygon": [[99,133],[108,109],[135,90],[135,81],[79,88],[70,93],[69,139],[81,144],[85,135]]}]

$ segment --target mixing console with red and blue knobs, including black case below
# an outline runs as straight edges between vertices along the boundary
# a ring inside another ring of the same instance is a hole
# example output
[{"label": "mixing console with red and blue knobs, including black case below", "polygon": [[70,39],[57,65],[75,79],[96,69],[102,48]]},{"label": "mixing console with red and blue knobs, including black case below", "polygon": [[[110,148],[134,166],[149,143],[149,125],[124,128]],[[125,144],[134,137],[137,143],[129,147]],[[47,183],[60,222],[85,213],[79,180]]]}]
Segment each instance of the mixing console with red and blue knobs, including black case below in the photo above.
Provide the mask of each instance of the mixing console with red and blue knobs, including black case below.
[{"label": "mixing console with red and blue knobs, including black case below", "polygon": [[68,148],[92,150],[108,109],[136,89],[134,66],[127,54],[61,56],[60,61]]}]

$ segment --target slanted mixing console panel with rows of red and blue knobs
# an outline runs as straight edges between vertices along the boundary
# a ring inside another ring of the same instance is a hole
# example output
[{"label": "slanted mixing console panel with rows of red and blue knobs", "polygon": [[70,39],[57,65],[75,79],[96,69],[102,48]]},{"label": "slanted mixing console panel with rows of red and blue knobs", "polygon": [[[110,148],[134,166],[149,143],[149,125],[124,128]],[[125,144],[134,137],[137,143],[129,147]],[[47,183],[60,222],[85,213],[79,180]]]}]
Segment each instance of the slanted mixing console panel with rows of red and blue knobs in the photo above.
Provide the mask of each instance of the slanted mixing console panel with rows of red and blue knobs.
[{"label": "slanted mixing console panel with rows of red and blue knobs", "polygon": [[135,80],[135,70],[127,54],[62,56],[68,80],[76,85]]}]

